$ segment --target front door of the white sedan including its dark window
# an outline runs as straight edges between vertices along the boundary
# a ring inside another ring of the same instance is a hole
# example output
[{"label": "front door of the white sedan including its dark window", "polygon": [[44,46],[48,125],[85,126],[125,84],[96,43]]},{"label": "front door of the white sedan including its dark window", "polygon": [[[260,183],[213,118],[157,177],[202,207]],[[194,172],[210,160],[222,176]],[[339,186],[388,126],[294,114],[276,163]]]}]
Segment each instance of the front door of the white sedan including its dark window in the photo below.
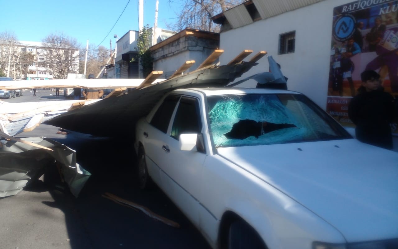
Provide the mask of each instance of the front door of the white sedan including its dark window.
[{"label": "front door of the white sedan including its dark window", "polygon": [[170,198],[195,224],[199,225],[198,207],[201,173],[206,153],[201,151],[181,151],[179,135],[202,132],[202,116],[199,99],[182,96],[179,100],[170,135],[162,144],[166,157],[162,162],[162,182]]}]

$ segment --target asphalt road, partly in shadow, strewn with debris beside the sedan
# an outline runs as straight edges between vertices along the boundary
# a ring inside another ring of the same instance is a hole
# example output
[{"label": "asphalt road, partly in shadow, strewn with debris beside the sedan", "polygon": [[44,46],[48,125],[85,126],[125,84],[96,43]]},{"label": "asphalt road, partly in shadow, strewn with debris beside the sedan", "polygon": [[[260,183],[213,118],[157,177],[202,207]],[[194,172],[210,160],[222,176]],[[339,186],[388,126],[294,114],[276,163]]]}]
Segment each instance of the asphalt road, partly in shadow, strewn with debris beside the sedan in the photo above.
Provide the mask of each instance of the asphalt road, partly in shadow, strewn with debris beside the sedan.
[{"label": "asphalt road, partly in shadow, strewn with debris beside the sedan", "polygon": [[[38,90],[6,102],[62,101],[60,93]],[[3,100],[3,99],[2,99]],[[158,188],[141,191],[136,184],[133,141],[93,137],[41,124],[16,137],[44,136],[76,150],[90,176],[78,198],[60,182],[55,169],[15,196],[0,198],[1,249],[209,248],[202,235]],[[141,211],[104,198],[105,192],[145,206],[177,222],[174,228]]]}]

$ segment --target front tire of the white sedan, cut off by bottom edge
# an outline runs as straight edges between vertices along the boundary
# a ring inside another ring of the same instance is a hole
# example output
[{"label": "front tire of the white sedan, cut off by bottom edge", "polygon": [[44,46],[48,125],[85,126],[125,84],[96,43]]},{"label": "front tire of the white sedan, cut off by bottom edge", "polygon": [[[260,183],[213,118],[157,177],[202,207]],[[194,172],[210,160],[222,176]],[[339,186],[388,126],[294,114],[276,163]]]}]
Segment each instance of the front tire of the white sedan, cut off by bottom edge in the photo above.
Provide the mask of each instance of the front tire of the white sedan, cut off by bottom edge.
[{"label": "front tire of the white sedan, cut off by bottom edge", "polygon": [[258,233],[244,220],[232,222],[228,231],[228,249],[267,249]]}]

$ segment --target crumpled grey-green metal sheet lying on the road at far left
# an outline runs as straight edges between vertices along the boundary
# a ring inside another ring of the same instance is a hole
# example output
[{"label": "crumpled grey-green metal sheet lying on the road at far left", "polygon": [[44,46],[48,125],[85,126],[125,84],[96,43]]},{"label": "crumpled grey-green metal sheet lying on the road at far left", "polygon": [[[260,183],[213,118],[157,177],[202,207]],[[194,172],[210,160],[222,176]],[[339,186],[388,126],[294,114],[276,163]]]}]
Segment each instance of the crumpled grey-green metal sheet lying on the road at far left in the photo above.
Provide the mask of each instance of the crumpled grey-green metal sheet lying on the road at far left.
[{"label": "crumpled grey-green metal sheet lying on the road at far left", "polygon": [[90,173],[76,163],[76,151],[46,137],[21,140],[51,148],[40,149],[19,141],[0,140],[0,197],[18,194],[29,181],[39,178],[46,167],[60,165],[60,172],[74,196],[78,196]]}]

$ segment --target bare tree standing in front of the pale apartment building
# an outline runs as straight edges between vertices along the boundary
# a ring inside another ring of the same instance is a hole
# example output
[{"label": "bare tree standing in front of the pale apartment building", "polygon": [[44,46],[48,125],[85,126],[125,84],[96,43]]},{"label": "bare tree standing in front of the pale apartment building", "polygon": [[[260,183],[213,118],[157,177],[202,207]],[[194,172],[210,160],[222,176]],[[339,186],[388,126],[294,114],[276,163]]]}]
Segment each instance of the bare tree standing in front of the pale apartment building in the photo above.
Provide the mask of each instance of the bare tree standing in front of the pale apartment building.
[{"label": "bare tree standing in front of the pale apartment building", "polygon": [[45,63],[56,79],[64,79],[68,73],[79,71],[79,47],[75,38],[63,33],[50,33],[42,41],[45,47]]}]

